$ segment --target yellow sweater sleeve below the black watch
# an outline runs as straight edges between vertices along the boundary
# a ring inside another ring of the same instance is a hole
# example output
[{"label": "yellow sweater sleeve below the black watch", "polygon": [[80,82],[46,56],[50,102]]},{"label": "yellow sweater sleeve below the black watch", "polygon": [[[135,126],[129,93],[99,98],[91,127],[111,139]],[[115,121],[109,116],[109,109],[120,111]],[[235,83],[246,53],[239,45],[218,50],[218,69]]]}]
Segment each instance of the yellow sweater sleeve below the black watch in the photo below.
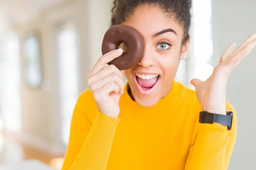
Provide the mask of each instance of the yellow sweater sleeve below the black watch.
[{"label": "yellow sweater sleeve below the black watch", "polygon": [[232,129],[218,123],[196,125],[196,137],[190,148],[185,170],[227,170],[236,140],[236,113]]}]

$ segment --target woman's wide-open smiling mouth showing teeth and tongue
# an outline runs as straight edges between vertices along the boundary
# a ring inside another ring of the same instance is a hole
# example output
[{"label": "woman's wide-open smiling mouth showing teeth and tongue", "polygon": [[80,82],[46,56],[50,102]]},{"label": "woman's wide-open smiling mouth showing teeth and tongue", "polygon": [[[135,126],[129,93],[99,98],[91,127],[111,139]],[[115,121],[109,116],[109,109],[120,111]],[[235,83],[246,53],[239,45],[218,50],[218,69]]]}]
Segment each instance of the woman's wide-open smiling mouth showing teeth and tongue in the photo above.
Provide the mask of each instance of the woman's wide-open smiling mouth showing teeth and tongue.
[{"label": "woman's wide-open smiling mouth showing teeth and tongue", "polygon": [[159,74],[134,74],[137,89],[141,94],[151,94],[160,79]]}]

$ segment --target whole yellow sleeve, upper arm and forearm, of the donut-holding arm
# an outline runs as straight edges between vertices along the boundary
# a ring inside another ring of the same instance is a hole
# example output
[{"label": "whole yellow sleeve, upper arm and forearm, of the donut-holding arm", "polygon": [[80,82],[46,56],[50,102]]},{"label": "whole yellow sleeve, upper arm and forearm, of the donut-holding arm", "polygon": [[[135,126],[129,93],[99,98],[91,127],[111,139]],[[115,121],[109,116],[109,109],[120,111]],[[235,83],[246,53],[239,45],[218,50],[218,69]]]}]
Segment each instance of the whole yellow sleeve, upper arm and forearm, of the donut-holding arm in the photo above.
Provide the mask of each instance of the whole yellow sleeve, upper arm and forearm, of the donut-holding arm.
[{"label": "whole yellow sleeve, upper arm and forearm, of the donut-holding arm", "polygon": [[[70,141],[62,170],[106,170],[116,127],[120,119],[96,111],[96,118],[90,122],[87,115],[93,109],[85,109],[84,99],[78,99],[74,109]],[[94,113],[95,114],[95,113]]]}]

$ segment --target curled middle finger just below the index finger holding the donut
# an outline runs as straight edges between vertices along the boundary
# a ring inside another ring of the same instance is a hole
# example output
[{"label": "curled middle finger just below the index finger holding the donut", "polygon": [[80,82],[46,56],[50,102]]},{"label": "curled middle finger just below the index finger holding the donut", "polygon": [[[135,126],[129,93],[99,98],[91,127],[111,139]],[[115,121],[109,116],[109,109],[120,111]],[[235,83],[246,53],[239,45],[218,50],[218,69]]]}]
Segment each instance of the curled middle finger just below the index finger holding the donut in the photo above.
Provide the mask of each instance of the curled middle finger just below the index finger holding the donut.
[{"label": "curled middle finger just below the index finger holding the donut", "polygon": [[107,75],[112,73],[116,73],[117,75],[119,75],[119,77],[122,77],[123,79],[122,72],[115,65],[109,65],[107,68],[104,68],[103,70],[89,77],[87,79],[88,86],[90,87],[93,83],[98,82],[103,77],[106,77]]}]

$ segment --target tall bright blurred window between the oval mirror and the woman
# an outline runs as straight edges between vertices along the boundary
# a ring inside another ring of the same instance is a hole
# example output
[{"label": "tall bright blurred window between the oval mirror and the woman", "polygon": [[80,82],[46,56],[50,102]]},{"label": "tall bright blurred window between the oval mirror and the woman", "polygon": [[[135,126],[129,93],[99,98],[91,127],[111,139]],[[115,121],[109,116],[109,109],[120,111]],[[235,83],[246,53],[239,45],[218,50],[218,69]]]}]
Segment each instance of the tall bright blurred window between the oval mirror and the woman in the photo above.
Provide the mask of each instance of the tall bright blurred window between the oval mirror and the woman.
[{"label": "tall bright blurred window between the oval mirror and the woman", "polygon": [[57,35],[58,83],[61,113],[61,134],[68,144],[70,121],[79,93],[78,38],[73,25],[62,26]]}]

